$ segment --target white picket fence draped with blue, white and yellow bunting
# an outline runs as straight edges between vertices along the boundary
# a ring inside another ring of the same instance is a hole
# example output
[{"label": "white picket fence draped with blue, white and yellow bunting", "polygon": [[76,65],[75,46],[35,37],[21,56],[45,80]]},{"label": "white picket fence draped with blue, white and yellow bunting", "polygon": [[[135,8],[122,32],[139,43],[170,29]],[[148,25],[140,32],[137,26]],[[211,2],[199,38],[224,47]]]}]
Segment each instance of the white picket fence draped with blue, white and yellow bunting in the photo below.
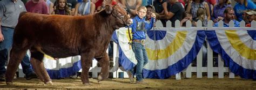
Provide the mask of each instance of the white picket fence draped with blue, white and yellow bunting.
[{"label": "white picket fence draped with blue, white and yellow bunting", "polygon": [[[202,25],[202,22],[198,21],[197,27],[201,27],[201,25]],[[208,21],[207,27],[212,27],[212,25],[213,25],[213,22]],[[234,22],[230,21],[229,25],[230,25],[230,27],[233,27]],[[176,26],[175,28],[186,28],[186,27],[180,27],[179,20],[176,21],[175,26]],[[191,22],[187,21],[186,26],[191,27]],[[161,22],[159,20],[156,22],[156,27],[163,27],[163,25],[161,24]],[[204,27],[205,30],[207,30],[207,27]],[[219,22],[219,27],[223,27],[223,21]],[[240,22],[240,27],[245,27],[244,21]],[[252,21],[251,27],[256,27],[256,21]],[[173,27],[171,27],[170,21],[168,21],[166,23],[166,28],[173,28]],[[213,58],[218,58],[218,67],[213,67]],[[204,61],[206,61],[206,60],[204,60]],[[188,65],[188,67],[185,70],[182,71],[184,77],[191,78],[192,73],[194,73],[194,72],[197,73],[197,78],[202,78],[203,72],[207,73],[207,78],[213,78],[213,73],[218,73],[218,78],[224,78],[225,72],[229,73],[228,74],[229,78],[234,78],[234,76],[235,76],[234,73],[230,72],[228,67],[224,67],[224,61],[220,55],[218,55],[218,57],[213,57],[213,51],[209,44],[207,45],[207,66],[206,67],[202,66],[202,62],[203,62],[202,49],[200,49],[200,51],[197,55],[196,62],[197,62],[196,67],[193,67],[190,64],[190,65]],[[90,71],[89,71],[89,72],[92,72],[92,77],[97,78],[98,73],[100,73],[100,70],[101,70],[101,67],[97,66],[97,61],[93,60],[92,67],[90,68]],[[80,70],[80,71],[82,71],[82,70]],[[113,67],[110,68],[109,71],[110,71],[110,73],[113,73],[113,78],[128,78],[128,75],[125,72],[125,70],[122,67],[119,67],[119,65],[118,65],[118,44],[116,44],[116,43],[113,44]],[[19,65],[18,72],[19,72],[19,77],[24,77],[24,74],[22,73],[21,65]],[[176,79],[177,80],[181,79],[181,72],[176,74]]]}]

